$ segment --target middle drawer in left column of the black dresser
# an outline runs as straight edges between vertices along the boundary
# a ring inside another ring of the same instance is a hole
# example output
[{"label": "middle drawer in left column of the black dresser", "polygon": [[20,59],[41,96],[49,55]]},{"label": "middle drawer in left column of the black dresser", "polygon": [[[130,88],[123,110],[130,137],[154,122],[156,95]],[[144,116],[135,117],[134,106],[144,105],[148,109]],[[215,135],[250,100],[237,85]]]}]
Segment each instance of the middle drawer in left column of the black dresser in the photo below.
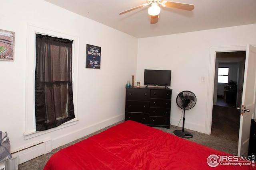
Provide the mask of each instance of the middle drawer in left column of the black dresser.
[{"label": "middle drawer in left column of the black dresser", "polygon": [[150,106],[150,102],[127,100],[125,104],[125,111],[149,113],[150,111],[149,106]]}]

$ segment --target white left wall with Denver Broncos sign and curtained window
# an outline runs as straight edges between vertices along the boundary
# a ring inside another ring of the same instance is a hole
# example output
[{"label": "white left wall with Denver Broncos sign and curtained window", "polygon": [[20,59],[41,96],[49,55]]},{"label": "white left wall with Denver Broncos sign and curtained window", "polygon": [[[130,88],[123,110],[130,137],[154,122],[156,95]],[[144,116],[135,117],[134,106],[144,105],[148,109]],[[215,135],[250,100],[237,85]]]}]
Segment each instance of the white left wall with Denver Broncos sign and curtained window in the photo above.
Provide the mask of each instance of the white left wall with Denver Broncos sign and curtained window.
[{"label": "white left wall with Denver Broncos sign and curtained window", "polygon": [[[14,61],[0,61],[0,131],[7,131],[11,152],[45,139],[52,140],[54,149],[124,119],[125,84],[136,76],[137,38],[43,0],[0,2],[0,29],[15,32]],[[79,38],[79,49],[75,49],[78,84],[74,87],[79,121],[25,140],[28,23]],[[86,44],[101,47],[100,69],[85,68]]]}]

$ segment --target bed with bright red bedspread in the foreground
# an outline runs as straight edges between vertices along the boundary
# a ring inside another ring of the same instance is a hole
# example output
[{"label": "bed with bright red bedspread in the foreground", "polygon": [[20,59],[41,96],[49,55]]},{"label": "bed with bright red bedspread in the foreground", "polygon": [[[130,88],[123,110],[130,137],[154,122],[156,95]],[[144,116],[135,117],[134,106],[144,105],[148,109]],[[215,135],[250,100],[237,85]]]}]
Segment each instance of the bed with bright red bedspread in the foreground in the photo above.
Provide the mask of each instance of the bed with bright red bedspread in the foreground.
[{"label": "bed with bright red bedspread in the foreground", "polygon": [[219,162],[214,162],[212,160],[214,157],[209,159],[210,155],[230,156],[225,152],[199,145],[159,129],[135,121],[125,121],[54,153],[44,170],[249,170],[254,168],[251,164],[220,165],[221,160],[217,158],[216,161]]}]

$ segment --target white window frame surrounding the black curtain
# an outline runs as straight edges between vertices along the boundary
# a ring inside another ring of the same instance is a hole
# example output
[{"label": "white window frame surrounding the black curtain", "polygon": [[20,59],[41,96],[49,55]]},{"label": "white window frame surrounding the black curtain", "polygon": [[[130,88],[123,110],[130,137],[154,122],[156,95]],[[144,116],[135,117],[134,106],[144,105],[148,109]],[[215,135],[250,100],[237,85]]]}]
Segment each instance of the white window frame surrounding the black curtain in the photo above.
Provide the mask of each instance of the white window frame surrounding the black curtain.
[{"label": "white window frame surrounding the black curtain", "polygon": [[[73,78],[73,101],[74,112],[76,118],[63,123],[62,125],[48,129],[46,131],[36,131],[35,128],[35,104],[34,104],[34,82],[35,82],[35,68],[36,68],[36,34],[50,35],[52,37],[59,37],[73,40],[72,46],[72,78]],[[51,131],[62,129],[64,127],[77,124],[77,98],[78,98],[78,50],[79,37],[55,31],[52,29],[29,24],[27,25],[27,57],[26,57],[26,99],[25,99],[25,132],[24,139],[30,139]]]}]

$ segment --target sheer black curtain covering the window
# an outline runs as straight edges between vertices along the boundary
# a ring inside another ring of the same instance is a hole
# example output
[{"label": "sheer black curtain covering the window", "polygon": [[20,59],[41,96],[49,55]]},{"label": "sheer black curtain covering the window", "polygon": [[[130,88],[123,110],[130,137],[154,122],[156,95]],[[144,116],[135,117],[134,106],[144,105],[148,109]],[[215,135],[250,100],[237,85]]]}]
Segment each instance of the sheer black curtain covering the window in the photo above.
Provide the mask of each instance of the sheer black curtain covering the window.
[{"label": "sheer black curtain covering the window", "polygon": [[75,118],[72,43],[68,39],[36,34],[36,131],[57,127]]}]

